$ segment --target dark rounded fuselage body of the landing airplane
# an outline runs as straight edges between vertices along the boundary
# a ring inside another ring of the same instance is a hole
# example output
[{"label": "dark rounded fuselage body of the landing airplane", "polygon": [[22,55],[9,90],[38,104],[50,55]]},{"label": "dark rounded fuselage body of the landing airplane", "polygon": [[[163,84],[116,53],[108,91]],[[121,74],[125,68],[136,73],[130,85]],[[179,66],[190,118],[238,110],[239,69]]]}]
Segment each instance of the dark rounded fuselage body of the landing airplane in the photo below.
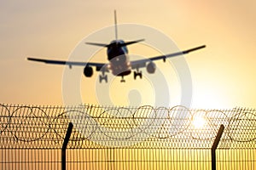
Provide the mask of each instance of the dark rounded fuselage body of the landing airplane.
[{"label": "dark rounded fuselage body of the landing airplane", "polygon": [[131,74],[128,49],[123,40],[114,40],[108,45],[108,60],[114,76],[124,77]]}]

